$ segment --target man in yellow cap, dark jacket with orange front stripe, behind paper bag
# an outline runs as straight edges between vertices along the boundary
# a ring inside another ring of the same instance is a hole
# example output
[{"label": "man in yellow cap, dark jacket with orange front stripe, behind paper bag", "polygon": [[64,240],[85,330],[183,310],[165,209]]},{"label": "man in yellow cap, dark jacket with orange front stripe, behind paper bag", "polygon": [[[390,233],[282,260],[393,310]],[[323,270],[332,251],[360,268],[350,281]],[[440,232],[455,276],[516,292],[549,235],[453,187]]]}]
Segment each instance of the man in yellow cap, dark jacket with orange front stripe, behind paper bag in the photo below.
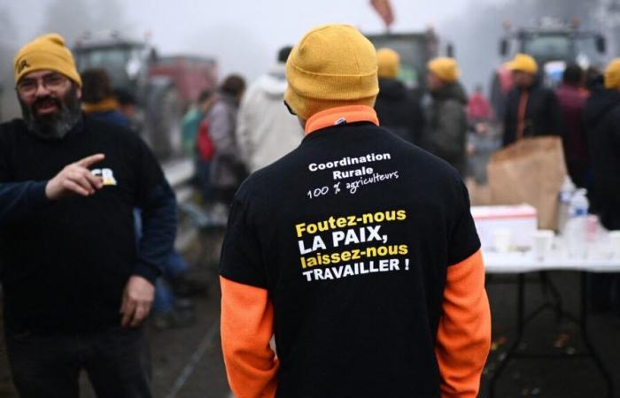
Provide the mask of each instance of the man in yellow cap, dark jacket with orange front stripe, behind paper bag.
[{"label": "man in yellow cap, dark jacket with orange front stripe, behind paper bag", "polygon": [[515,87],[506,99],[503,145],[523,137],[561,134],[560,103],[554,91],[540,83],[536,60],[520,53],[505,66],[512,71]]}]

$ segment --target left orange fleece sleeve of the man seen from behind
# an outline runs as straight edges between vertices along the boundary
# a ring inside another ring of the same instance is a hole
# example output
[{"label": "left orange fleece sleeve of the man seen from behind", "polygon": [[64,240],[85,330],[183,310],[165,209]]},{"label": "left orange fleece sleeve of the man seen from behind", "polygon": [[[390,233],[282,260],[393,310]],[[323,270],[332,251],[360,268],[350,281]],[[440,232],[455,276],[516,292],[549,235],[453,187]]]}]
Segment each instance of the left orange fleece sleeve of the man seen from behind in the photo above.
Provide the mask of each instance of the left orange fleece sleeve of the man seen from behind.
[{"label": "left orange fleece sleeve of the man seen from behind", "polygon": [[220,277],[221,348],[236,398],[273,398],[278,360],[269,347],[274,308],[267,290]]}]

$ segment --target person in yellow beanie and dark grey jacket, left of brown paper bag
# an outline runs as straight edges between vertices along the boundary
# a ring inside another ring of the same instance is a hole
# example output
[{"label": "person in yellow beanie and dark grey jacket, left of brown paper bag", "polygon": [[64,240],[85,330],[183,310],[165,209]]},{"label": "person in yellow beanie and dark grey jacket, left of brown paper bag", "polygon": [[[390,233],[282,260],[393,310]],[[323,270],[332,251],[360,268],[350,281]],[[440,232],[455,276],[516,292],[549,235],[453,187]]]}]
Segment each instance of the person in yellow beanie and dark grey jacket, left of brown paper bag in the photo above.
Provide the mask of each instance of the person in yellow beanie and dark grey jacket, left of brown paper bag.
[{"label": "person in yellow beanie and dark grey jacket, left of brown paper bag", "polygon": [[467,172],[467,96],[459,82],[459,66],[453,58],[438,57],[430,60],[427,67],[432,98],[426,110],[429,150],[464,176]]}]

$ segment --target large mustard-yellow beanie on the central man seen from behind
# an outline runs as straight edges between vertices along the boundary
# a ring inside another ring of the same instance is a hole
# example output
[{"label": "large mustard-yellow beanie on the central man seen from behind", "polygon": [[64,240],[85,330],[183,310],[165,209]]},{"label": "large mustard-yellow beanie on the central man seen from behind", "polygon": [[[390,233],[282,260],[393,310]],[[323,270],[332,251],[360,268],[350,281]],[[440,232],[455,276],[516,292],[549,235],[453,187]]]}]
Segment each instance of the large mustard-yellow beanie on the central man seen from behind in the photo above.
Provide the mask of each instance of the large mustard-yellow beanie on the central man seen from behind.
[{"label": "large mustard-yellow beanie on the central man seen from behind", "polygon": [[314,27],[286,61],[284,101],[303,119],[337,106],[373,106],[376,71],[375,47],[355,27]]}]

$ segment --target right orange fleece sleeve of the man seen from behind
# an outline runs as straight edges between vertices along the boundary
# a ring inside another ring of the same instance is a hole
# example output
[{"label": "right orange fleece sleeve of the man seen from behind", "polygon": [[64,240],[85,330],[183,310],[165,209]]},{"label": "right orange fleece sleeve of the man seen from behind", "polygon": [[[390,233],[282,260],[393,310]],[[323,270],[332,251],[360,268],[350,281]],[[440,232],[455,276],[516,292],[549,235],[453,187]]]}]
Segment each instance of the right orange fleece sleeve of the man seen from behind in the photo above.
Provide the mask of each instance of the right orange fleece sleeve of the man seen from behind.
[{"label": "right orange fleece sleeve of the man seen from behind", "polygon": [[478,250],[448,267],[435,354],[442,398],[476,398],[491,346],[491,310]]}]

